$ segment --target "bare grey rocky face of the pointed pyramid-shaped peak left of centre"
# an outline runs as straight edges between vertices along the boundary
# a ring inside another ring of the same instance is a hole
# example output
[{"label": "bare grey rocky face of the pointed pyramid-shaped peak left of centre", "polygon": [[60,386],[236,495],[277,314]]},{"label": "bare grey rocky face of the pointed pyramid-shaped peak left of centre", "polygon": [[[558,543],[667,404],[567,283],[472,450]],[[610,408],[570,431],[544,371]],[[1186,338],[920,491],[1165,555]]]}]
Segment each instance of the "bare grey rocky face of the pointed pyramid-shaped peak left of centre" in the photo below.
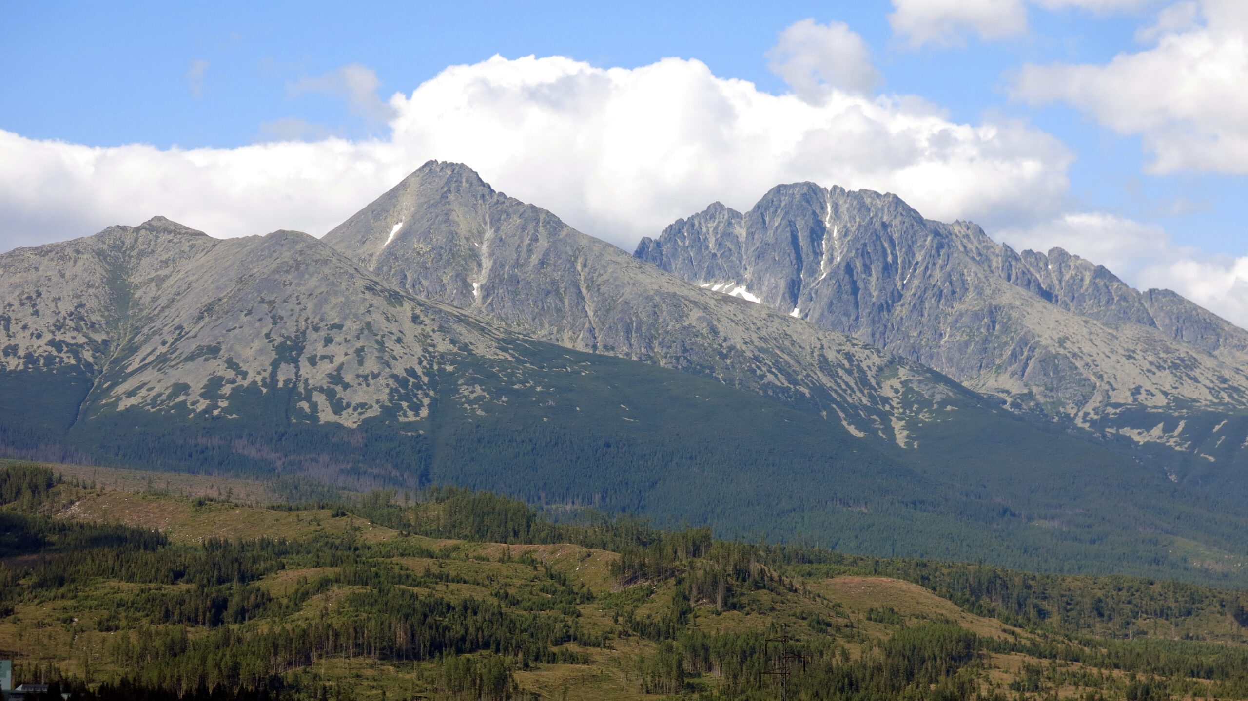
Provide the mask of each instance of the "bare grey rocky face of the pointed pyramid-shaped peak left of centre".
[{"label": "bare grey rocky face of the pointed pyramid-shaped peak left of centre", "polygon": [[795,402],[902,447],[907,422],[952,397],[976,400],[841,333],[690,286],[458,163],[424,165],[323,241],[411,294],[568,348]]}]

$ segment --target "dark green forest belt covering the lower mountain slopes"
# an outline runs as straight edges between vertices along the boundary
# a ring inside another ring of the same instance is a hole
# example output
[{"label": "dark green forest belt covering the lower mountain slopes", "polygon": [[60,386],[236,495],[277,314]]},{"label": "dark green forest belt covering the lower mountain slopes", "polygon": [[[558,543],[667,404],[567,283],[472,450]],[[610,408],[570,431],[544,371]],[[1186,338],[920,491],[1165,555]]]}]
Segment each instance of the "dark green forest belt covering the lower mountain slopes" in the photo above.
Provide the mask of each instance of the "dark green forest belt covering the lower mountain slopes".
[{"label": "dark green forest belt covering the lower mountain slopes", "polygon": [[6,373],[0,445],[49,462],[363,490],[458,484],[864,555],[1248,584],[1248,518],[1234,494],[1174,484],[972,397],[948,412],[956,420],[914,427],[922,452],[902,450],[715,380],[537,342],[514,350],[545,387],[513,387],[505,368],[463,363],[439,382],[509,400],[477,414],[441,398],[421,427],[386,415],[354,429],[292,422],[301,398],[258,388],[231,394],[240,419],[107,408],[80,418],[90,378]]}]

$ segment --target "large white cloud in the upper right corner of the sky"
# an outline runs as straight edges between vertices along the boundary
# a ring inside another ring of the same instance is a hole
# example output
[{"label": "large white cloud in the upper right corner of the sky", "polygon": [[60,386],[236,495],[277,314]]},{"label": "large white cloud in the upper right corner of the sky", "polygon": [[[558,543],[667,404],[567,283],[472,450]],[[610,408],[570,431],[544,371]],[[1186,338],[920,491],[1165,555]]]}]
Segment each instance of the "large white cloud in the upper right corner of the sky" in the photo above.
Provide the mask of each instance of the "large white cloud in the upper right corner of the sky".
[{"label": "large white cloud in the upper right corner of the sky", "polygon": [[1248,173],[1248,2],[1179,4],[1141,34],[1157,45],[1108,64],[1025,65],[1012,94],[1062,101],[1123,135],[1139,135],[1149,172]]}]

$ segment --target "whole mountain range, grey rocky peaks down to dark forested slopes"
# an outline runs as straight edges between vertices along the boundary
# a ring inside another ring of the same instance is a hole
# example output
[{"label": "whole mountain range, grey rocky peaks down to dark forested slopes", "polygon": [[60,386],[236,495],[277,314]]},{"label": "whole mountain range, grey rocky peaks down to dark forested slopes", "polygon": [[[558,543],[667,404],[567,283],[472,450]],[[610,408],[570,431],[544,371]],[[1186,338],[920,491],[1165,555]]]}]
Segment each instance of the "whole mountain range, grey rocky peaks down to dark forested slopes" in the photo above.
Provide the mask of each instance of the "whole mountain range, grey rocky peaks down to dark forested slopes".
[{"label": "whole mountain range, grey rocky peaks down to dark forested slopes", "polygon": [[429,162],[323,238],[0,254],[9,455],[456,483],[844,550],[1239,581],[1243,331],[899,198],[636,254]]}]

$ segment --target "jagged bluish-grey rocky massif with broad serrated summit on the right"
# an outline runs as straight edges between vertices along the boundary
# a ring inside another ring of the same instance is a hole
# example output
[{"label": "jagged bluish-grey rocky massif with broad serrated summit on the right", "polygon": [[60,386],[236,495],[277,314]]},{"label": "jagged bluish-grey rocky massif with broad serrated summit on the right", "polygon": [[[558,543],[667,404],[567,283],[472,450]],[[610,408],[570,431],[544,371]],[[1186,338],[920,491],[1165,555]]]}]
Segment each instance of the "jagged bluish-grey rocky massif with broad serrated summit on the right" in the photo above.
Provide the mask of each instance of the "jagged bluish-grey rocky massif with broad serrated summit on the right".
[{"label": "jagged bluish-grey rocky massif with broad serrated summit on the right", "polygon": [[[1173,443],[1184,412],[1248,409],[1242,329],[1060,248],[1020,254],[975,225],[925,220],[894,195],[779,186],[749,212],[715,203],[680,220],[635,256],[1102,434],[1138,442],[1162,423]],[[1118,420],[1126,409],[1166,415]]]}]

